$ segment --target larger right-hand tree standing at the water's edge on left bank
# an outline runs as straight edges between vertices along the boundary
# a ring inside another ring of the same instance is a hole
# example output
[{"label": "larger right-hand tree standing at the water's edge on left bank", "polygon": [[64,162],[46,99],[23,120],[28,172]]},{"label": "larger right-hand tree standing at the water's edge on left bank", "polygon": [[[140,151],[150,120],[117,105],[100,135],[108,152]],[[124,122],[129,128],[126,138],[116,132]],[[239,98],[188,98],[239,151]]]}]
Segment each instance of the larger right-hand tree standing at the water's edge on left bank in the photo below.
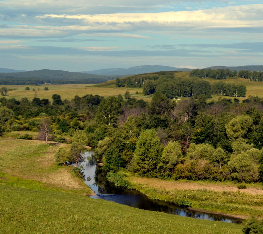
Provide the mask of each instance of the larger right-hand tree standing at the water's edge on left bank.
[{"label": "larger right-hand tree standing at the water's edge on left bank", "polygon": [[70,163],[75,163],[74,167],[77,167],[79,162],[84,161],[83,153],[87,151],[87,148],[85,145],[83,145],[80,142],[73,142],[71,143],[70,149],[69,149],[69,155],[68,160]]}]

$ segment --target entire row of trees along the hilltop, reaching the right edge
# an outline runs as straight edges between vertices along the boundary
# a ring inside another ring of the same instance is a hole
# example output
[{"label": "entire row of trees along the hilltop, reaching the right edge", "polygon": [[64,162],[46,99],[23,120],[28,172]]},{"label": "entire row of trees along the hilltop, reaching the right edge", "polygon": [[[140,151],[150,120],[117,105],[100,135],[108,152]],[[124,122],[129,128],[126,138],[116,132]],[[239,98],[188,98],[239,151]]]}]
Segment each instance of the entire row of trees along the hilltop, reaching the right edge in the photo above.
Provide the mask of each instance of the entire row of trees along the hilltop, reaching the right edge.
[{"label": "entire row of trees along the hilltop, reaching the right edge", "polygon": [[231,71],[229,69],[195,69],[190,72],[190,77],[198,76],[200,78],[211,77],[214,79],[226,79],[226,77],[243,77],[249,80],[263,81],[263,72],[256,72],[250,70]]}]

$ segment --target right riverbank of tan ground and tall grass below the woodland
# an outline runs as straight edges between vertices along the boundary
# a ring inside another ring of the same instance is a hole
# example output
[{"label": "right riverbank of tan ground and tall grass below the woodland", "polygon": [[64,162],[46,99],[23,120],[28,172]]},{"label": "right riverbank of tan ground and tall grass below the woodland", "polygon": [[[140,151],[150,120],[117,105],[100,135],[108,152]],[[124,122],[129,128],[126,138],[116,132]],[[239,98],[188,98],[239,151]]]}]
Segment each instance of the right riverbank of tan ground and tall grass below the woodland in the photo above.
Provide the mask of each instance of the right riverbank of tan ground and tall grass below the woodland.
[{"label": "right riverbank of tan ground and tall grass below the woodland", "polygon": [[260,184],[240,190],[230,182],[164,181],[157,178],[128,176],[133,188],[148,197],[176,203],[189,201],[192,208],[205,212],[248,218],[263,217],[263,190]]}]

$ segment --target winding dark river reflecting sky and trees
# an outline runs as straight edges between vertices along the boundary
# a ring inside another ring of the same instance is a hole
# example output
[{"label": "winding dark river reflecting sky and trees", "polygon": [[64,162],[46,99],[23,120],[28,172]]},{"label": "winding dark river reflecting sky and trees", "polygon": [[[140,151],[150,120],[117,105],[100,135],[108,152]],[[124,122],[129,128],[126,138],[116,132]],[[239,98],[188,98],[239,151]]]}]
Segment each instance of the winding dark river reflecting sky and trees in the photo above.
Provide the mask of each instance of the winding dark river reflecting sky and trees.
[{"label": "winding dark river reflecting sky and trees", "polygon": [[[92,151],[85,153],[85,157],[92,155]],[[96,193],[96,195],[90,196],[94,199],[100,198],[139,209],[159,211],[167,214],[176,214],[195,219],[207,219],[228,223],[241,222],[240,219],[229,218],[227,216],[184,209],[176,206],[173,203],[149,199],[146,195],[140,193],[137,190],[116,187],[113,183],[106,179],[106,172],[102,170],[102,167],[97,166],[97,163],[98,162],[95,157],[92,157],[91,160],[85,160],[85,162],[82,163],[82,172],[84,174],[85,183],[90,186],[94,193]]]}]

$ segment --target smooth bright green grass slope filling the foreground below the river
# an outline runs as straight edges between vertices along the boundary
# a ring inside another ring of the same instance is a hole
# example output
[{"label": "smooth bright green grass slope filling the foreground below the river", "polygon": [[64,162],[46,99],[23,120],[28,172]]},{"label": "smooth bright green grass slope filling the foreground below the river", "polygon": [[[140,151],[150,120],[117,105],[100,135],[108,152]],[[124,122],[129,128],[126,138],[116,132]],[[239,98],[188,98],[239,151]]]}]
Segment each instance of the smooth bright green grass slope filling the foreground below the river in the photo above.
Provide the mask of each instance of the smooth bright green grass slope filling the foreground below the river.
[{"label": "smooth bright green grass slope filling the foreground below the river", "polygon": [[0,185],[1,233],[241,234],[242,225],[139,210],[101,199]]}]

